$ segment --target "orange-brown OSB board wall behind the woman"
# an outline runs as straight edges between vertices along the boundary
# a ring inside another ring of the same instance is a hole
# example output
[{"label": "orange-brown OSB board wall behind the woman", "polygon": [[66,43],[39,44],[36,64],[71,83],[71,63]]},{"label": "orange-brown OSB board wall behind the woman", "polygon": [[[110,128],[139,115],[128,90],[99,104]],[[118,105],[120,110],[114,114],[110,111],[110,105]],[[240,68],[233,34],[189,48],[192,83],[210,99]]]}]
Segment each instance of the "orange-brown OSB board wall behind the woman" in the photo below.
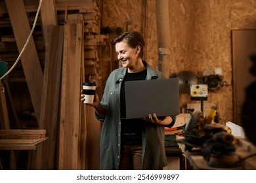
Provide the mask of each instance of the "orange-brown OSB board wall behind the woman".
[{"label": "orange-brown OSB board wall behind the woman", "polygon": [[[140,31],[146,38],[145,59],[158,69],[158,40],[155,0],[102,2],[102,26]],[[221,67],[222,86],[210,92],[208,101],[219,107],[222,122],[233,121],[232,100],[232,29],[256,29],[256,0],[169,0],[171,34],[170,73],[203,71]],[[127,26],[127,23],[130,23]],[[181,106],[190,103],[181,94]]]}]

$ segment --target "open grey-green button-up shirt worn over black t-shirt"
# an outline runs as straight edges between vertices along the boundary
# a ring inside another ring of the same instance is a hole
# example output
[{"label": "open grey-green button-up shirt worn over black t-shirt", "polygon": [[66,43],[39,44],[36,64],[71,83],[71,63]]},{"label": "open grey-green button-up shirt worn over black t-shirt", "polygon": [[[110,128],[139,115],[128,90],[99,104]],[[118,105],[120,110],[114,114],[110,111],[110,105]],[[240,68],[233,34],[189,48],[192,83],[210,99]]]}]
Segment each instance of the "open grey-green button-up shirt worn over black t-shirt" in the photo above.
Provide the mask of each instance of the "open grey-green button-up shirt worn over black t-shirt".
[{"label": "open grey-green button-up shirt worn over black t-shirt", "polygon": [[[146,80],[164,78],[163,73],[156,71],[145,61]],[[110,73],[101,105],[106,108],[105,118],[100,135],[100,169],[118,169],[121,153],[121,117],[120,117],[120,90],[121,82],[127,68],[119,68]],[[171,116],[175,122],[176,117]],[[174,122],[172,124],[174,124]],[[161,169],[167,165],[164,144],[164,127],[162,125],[145,123],[142,127],[142,169]]]}]

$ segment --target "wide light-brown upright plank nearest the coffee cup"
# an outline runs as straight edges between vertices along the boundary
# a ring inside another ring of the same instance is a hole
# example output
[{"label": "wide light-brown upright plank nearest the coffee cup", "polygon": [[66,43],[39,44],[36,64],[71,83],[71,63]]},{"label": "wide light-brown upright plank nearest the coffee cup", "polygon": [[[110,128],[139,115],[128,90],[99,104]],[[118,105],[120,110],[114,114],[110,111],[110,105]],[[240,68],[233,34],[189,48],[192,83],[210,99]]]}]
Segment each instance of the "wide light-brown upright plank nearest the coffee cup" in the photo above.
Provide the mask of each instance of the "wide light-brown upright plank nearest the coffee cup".
[{"label": "wide light-brown upright plank nearest the coffee cup", "polygon": [[[81,60],[83,51],[83,16],[68,16],[64,25],[62,93],[60,101],[60,144],[58,169],[79,167],[79,104],[81,95]],[[76,22],[76,23],[75,23]]]}]

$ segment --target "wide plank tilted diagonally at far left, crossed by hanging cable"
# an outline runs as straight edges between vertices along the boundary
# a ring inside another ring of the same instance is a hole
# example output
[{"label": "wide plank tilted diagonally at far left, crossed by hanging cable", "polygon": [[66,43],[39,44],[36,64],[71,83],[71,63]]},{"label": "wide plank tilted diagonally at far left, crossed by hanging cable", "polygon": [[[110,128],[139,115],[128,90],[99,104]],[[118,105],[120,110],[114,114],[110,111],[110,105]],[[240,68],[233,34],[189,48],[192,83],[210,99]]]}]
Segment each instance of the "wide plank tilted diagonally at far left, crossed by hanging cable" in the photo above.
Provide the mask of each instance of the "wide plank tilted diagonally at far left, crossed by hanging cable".
[{"label": "wide plank tilted diagonally at far left, crossed by hanging cable", "polygon": [[[30,33],[30,24],[28,22],[24,1],[5,0],[5,3],[9,12],[18,51],[21,52]],[[30,96],[32,99],[33,108],[35,110],[35,116],[37,117],[38,121],[41,106],[43,71],[41,69],[33,37],[31,37],[30,42],[28,42],[27,47],[21,56],[21,61],[26,76],[28,89],[30,90]]]}]

